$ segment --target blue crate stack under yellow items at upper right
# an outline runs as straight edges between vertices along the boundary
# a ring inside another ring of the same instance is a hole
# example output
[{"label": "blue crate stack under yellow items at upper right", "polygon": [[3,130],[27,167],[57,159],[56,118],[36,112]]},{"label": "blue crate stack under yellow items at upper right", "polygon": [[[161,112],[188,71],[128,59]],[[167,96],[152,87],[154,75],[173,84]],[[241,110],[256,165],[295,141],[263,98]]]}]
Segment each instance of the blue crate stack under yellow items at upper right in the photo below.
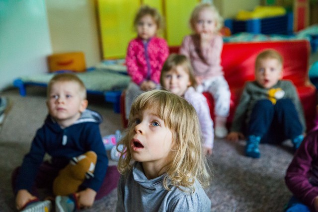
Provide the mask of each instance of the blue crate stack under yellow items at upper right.
[{"label": "blue crate stack under yellow items at upper right", "polygon": [[226,19],[224,25],[229,27],[232,34],[248,32],[253,34],[293,34],[293,13],[269,18],[255,18],[246,21]]}]

